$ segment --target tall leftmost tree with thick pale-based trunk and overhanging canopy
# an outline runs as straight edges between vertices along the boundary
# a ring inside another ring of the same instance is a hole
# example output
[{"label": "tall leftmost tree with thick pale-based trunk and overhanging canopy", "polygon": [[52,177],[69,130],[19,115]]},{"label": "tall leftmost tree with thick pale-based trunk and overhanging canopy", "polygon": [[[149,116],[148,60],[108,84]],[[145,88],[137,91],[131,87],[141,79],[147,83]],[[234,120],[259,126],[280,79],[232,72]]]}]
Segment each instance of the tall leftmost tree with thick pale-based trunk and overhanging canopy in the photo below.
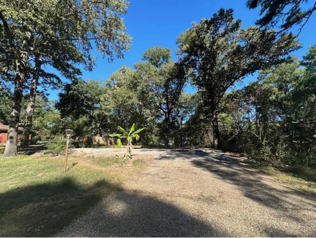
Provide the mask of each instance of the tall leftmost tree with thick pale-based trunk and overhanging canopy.
[{"label": "tall leftmost tree with thick pale-based trunk and overhanging canopy", "polygon": [[[16,155],[22,91],[32,57],[35,61],[38,57],[37,69],[40,69],[40,57],[56,46],[66,47],[72,55],[80,54],[86,65],[92,67],[92,42],[109,60],[122,57],[131,42],[120,17],[127,7],[125,0],[0,1],[0,39],[9,44],[3,47],[6,52],[1,55],[9,55],[15,68],[13,106],[3,156]],[[56,54],[49,57],[53,55]]]}]

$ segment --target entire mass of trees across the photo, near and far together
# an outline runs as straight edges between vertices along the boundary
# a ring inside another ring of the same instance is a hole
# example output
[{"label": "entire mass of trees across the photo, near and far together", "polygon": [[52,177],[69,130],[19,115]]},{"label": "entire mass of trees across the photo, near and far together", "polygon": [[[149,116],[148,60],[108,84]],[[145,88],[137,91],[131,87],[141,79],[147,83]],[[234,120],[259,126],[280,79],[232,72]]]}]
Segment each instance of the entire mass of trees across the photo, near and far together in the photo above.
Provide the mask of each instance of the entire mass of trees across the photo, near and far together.
[{"label": "entire mass of trees across the photo, near and far together", "polygon": [[[266,162],[315,166],[315,46],[301,61],[290,56],[301,45],[289,28],[303,27],[314,11],[301,11],[300,3],[250,0],[247,7],[260,5],[264,16],[246,29],[232,9],[220,9],[180,34],[177,61],[167,48],[149,48],[132,68],[121,67],[101,83],[82,80],[77,65],[93,69],[92,42],[110,61],[123,57],[131,43],[120,17],[127,2],[4,1],[0,116],[9,124],[4,156],[16,154],[18,126],[24,127],[27,146],[29,134],[52,138],[72,128],[91,138],[135,122],[147,128],[142,144],[210,146]],[[270,29],[291,4],[296,10],[286,14],[281,30]],[[46,72],[45,65],[68,82]],[[255,72],[260,72],[256,82],[235,90],[236,82]],[[194,95],[184,92],[187,84],[197,88]],[[61,88],[58,101],[49,102],[39,86]]]}]

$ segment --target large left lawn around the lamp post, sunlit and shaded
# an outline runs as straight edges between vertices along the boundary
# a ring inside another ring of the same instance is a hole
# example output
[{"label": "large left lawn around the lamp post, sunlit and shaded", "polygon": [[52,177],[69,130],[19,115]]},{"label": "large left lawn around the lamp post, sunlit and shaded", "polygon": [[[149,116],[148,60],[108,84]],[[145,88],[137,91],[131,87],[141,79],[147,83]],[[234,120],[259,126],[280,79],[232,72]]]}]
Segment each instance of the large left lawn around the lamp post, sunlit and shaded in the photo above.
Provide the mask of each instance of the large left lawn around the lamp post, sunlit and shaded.
[{"label": "large left lawn around the lamp post, sunlit and shaded", "polygon": [[87,212],[131,173],[144,167],[134,161],[119,166],[115,157],[63,156],[0,158],[0,236],[52,236]]}]

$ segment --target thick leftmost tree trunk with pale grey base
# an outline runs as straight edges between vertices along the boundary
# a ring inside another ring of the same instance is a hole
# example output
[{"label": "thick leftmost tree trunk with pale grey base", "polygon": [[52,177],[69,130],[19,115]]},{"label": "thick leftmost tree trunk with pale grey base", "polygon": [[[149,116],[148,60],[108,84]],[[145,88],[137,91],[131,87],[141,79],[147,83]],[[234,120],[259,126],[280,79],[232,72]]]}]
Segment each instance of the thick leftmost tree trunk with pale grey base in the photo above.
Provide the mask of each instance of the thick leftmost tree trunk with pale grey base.
[{"label": "thick leftmost tree trunk with pale grey base", "polygon": [[21,112],[21,101],[23,86],[26,76],[26,65],[27,65],[28,54],[21,53],[19,59],[16,60],[16,75],[15,75],[15,86],[13,93],[13,107],[10,114],[9,129],[7,142],[3,157],[16,156],[17,154],[17,139],[18,139],[18,123],[20,122]]}]

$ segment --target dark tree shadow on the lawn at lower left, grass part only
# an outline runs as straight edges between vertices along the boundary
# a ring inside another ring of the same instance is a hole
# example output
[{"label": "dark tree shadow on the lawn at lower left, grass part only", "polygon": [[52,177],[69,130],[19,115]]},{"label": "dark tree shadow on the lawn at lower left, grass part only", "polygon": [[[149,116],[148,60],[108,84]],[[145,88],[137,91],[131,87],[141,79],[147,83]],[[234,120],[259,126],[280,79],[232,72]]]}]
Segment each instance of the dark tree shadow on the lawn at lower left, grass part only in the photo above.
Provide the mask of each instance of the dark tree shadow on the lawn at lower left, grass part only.
[{"label": "dark tree shadow on the lawn at lower left, grass part only", "polygon": [[52,236],[114,189],[105,180],[82,189],[64,178],[9,190],[0,194],[0,236]]}]

